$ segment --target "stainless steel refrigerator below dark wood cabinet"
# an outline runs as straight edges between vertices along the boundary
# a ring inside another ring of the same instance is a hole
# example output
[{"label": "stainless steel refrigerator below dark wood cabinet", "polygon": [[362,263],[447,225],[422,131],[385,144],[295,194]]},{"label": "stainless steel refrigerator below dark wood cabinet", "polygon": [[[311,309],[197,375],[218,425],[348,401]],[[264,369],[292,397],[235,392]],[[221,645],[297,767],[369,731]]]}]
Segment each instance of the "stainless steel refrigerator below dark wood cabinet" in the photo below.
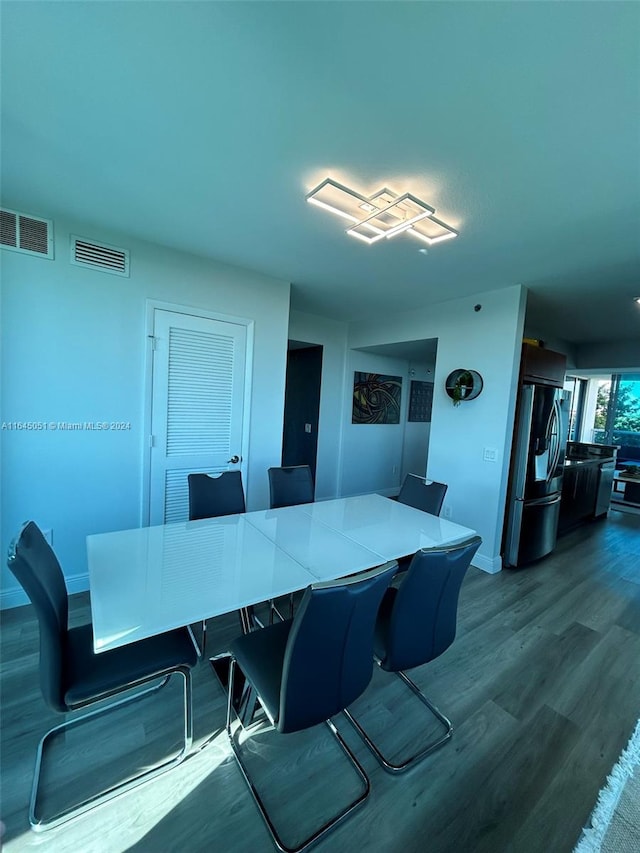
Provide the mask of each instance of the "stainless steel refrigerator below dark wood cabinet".
[{"label": "stainless steel refrigerator below dark wood cabinet", "polygon": [[531,563],[555,548],[571,394],[524,384],[516,409],[504,565]]}]

